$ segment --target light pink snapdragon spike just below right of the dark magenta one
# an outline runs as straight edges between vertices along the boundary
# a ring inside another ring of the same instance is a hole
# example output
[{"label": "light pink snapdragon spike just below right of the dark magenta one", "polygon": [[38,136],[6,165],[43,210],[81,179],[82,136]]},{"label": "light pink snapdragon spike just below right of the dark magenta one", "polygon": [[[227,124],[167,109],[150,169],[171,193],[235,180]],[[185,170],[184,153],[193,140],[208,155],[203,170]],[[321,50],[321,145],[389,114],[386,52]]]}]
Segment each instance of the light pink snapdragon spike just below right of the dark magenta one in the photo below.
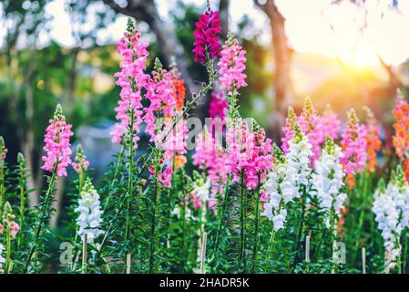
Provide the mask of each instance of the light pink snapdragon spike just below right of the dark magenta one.
[{"label": "light pink snapdragon spike just below right of the dark magenta one", "polygon": [[246,51],[243,50],[237,39],[231,34],[223,45],[219,61],[220,88],[228,91],[229,95],[237,94],[237,90],[247,86],[246,74]]}]

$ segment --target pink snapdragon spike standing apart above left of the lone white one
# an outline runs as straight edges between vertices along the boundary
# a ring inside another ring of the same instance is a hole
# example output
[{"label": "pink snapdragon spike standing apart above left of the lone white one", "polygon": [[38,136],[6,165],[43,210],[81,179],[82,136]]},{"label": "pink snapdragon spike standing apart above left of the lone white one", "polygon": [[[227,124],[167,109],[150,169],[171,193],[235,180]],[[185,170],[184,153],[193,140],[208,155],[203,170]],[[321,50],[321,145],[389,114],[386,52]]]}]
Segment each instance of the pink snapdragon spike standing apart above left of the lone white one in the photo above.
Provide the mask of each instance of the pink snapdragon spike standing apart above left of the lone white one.
[{"label": "pink snapdragon spike standing apart above left of the lone white one", "polygon": [[56,167],[56,175],[66,176],[66,167],[71,163],[69,137],[73,132],[72,125],[66,124],[66,117],[59,104],[56,106],[53,120],[49,120],[49,123],[44,136],[46,156],[42,157],[44,162],[42,169],[53,172]]}]

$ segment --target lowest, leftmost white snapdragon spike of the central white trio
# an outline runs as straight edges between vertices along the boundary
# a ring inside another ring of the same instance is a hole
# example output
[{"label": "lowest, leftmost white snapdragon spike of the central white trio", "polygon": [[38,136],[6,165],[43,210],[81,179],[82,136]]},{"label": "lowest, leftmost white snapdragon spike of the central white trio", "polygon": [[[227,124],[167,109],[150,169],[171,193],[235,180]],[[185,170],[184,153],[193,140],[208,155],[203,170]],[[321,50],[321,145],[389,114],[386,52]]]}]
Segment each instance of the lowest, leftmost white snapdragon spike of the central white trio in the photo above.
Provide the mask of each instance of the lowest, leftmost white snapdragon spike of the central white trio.
[{"label": "lowest, leftmost white snapdragon spike of the central white trio", "polygon": [[[275,150],[277,152],[280,150]],[[264,203],[264,211],[261,215],[272,220],[275,231],[284,227],[287,210],[285,204],[298,195],[295,185],[296,170],[287,161],[277,162],[269,173],[265,189],[269,195],[269,202]]]}]

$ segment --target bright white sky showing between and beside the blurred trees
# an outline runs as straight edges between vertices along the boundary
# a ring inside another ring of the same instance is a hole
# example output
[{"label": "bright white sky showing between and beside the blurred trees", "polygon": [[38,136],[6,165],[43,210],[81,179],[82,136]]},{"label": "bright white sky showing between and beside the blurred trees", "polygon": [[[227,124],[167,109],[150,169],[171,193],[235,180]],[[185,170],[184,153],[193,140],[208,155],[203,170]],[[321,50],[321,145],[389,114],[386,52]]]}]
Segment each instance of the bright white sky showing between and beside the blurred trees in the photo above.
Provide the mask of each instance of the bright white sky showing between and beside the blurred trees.
[{"label": "bright white sky showing between and beside the blurred trees", "polygon": [[[186,3],[204,5],[205,0],[184,0]],[[247,34],[260,34],[260,41],[270,42],[270,28],[266,16],[253,4],[253,0],[230,0],[230,24],[232,30],[247,14],[254,22]],[[390,9],[391,0],[366,0],[363,8],[344,1],[342,5],[331,5],[332,0],[276,0],[286,21],[286,32],[291,47],[301,52],[341,57],[357,65],[377,63],[377,55],[394,66],[409,57],[409,37],[405,28],[409,27],[409,1],[400,0],[398,11]],[[169,20],[169,10],[176,0],[157,0],[159,13]],[[216,8],[219,0],[210,1]],[[94,5],[92,10],[104,9],[103,5]],[[69,18],[64,0],[55,0],[47,6],[47,12],[55,16],[50,24],[50,36],[63,46],[73,43]],[[364,17],[367,14],[366,18]],[[363,30],[364,20],[367,26]],[[91,20],[92,21],[92,20]],[[126,17],[118,17],[98,35],[99,43],[113,42],[118,32],[126,26]],[[5,35],[4,26],[0,27],[0,36]],[[86,27],[87,29],[87,27]],[[45,44],[49,37],[40,36]]]}]

